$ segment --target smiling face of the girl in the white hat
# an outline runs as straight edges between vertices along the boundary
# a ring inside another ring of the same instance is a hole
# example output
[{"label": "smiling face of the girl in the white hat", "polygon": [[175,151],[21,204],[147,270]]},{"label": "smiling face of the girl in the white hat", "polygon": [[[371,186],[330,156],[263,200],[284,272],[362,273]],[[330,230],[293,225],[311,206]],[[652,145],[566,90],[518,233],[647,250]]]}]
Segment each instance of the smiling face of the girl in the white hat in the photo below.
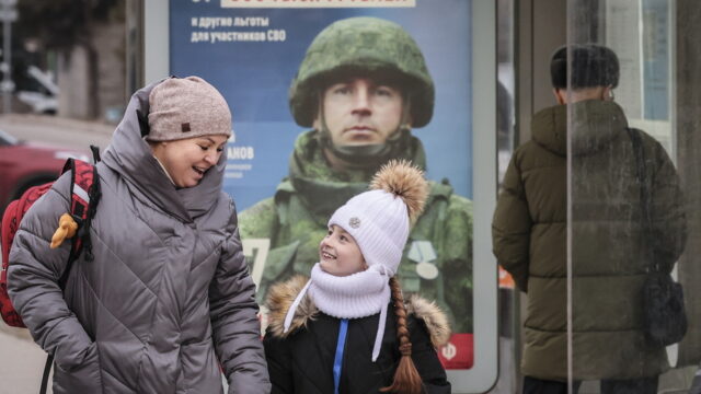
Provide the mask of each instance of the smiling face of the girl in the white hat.
[{"label": "smiling face of the girl in the white hat", "polygon": [[368,268],[353,236],[335,224],[319,244],[319,264],[321,269],[335,276],[348,276]]}]

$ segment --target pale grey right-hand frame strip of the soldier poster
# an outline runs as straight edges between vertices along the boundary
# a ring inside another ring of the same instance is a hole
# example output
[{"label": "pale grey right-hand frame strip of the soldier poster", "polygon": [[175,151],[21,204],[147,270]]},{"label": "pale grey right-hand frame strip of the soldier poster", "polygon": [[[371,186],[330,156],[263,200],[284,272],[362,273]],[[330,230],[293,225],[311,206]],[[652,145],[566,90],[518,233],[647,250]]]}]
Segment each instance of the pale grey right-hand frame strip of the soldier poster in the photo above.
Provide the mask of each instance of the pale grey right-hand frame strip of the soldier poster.
[{"label": "pale grey right-hand frame strip of the soldier poster", "polygon": [[492,254],[496,208],[496,2],[472,0],[472,196],[474,366],[447,371],[453,393],[485,393],[498,378],[498,270]]}]

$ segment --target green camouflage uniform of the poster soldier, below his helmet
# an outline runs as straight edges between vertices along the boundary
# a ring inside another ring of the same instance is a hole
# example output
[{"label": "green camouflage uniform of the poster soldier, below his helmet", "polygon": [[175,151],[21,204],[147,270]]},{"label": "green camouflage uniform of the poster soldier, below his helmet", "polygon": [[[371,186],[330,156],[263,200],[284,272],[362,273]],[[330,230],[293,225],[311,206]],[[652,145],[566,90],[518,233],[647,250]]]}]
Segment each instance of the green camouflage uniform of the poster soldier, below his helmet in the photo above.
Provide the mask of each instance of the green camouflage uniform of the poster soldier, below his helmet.
[{"label": "green camouflage uniform of the poster soldier, below his helmet", "polygon": [[[329,218],[348,198],[366,190],[377,171],[334,171],[322,157],[318,134],[308,131],[297,139],[290,174],[278,185],[275,196],[239,216],[244,243],[254,239],[271,241],[256,296],[261,304],[273,282],[294,274],[309,275],[319,260],[319,243],[326,234]],[[411,138],[404,159],[425,167],[423,146]],[[248,257],[253,264],[254,257]],[[421,259],[435,265],[436,278],[418,275]],[[449,314],[456,333],[473,332],[472,202],[455,195],[447,182],[430,182],[426,209],[410,234],[398,276],[405,292],[421,292],[436,300]]]}]

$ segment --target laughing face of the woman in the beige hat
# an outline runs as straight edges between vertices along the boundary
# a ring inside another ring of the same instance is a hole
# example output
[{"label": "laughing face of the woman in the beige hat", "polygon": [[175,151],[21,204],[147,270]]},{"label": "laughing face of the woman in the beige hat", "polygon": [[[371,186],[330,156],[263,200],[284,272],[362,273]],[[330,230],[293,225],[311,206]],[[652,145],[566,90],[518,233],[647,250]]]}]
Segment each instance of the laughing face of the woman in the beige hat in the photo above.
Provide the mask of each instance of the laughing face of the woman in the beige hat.
[{"label": "laughing face of the woman in the beige hat", "polygon": [[176,187],[193,187],[217,164],[227,140],[225,135],[204,136],[156,142],[151,147]]}]

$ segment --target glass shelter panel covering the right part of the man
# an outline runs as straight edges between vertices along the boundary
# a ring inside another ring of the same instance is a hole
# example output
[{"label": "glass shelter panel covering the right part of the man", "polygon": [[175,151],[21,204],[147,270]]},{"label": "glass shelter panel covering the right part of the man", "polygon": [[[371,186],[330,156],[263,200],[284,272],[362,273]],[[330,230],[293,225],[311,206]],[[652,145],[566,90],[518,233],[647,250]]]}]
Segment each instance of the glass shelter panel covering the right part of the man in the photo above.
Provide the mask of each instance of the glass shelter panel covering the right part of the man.
[{"label": "glass shelter panel covering the right part of the man", "polygon": [[[700,11],[681,0],[568,1],[568,45],[552,69],[566,74],[556,89],[566,105],[553,107],[548,124],[553,143],[568,131],[567,270],[553,271],[543,289],[566,296],[573,392],[692,385],[701,359],[701,271],[691,257],[701,140],[698,93],[688,86],[698,79],[691,18]],[[675,314],[677,283],[686,309]]]}]

